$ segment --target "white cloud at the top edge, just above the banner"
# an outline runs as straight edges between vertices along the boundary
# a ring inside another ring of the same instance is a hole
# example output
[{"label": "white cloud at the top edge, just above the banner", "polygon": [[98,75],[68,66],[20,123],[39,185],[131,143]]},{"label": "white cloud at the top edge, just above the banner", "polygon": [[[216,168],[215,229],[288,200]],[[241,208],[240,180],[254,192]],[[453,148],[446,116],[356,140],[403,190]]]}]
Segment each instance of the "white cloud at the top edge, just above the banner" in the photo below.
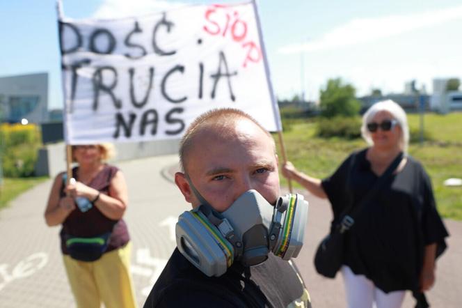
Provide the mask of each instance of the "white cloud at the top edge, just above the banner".
[{"label": "white cloud at the top edge, just above the banner", "polygon": [[131,17],[184,6],[164,0],[104,0],[93,17],[100,19]]}]

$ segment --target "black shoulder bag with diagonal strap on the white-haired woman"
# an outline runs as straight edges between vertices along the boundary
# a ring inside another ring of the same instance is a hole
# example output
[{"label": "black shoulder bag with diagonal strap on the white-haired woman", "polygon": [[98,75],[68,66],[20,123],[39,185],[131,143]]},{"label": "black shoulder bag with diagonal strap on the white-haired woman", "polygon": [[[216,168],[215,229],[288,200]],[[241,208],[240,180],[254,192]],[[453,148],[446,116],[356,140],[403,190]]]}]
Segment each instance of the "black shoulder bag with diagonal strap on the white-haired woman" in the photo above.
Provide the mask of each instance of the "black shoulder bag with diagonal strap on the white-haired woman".
[{"label": "black shoulder bag with diagonal strap on the white-haired woman", "polygon": [[[369,202],[375,196],[376,192],[379,191],[379,188],[383,185],[383,183],[385,183],[385,180],[387,180],[393,171],[397,169],[402,157],[403,154],[400,153],[395,158],[385,173],[377,179],[374,187],[369,190],[359,204],[356,206],[351,204],[348,208],[346,208],[346,210],[344,210],[342,215],[340,215],[340,217],[342,217],[340,222],[337,222],[335,226],[331,227],[330,233],[321,240],[321,243],[317,247],[316,254],[314,255],[314,267],[319,274],[328,278],[335,277],[343,263],[344,237],[346,231],[353,226],[355,217],[357,217],[360,210],[364,208],[365,203]],[[355,160],[356,157],[353,157],[350,165],[349,177],[351,176],[351,169],[353,168]]]}]

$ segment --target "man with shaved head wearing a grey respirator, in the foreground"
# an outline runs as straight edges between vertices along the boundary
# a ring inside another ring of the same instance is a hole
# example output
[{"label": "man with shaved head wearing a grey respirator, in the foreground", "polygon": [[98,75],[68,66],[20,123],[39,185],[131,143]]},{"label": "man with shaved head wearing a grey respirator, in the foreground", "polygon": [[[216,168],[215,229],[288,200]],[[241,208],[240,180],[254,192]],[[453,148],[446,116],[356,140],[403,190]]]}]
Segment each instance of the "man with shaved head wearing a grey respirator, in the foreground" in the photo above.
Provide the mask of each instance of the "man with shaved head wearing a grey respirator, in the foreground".
[{"label": "man with shaved head wearing a grey respirator, in the foreground", "polygon": [[310,307],[290,261],[308,202],[280,197],[271,134],[243,111],[209,111],[186,131],[180,162],[175,183],[193,210],[144,307]]}]

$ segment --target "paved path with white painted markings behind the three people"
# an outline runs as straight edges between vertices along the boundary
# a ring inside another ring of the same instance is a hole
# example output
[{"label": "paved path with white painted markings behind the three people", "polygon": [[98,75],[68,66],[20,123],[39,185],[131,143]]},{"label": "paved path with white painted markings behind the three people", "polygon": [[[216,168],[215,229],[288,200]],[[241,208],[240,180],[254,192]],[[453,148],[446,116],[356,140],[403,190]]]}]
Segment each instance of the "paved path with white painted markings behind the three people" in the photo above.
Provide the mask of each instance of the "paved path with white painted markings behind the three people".
[{"label": "paved path with white painted markings behind the three people", "polygon": [[[129,186],[125,220],[132,236],[132,272],[140,307],[175,247],[177,217],[189,209],[172,181],[176,162],[176,155],[166,155],[117,164]],[[0,211],[1,308],[75,307],[59,250],[59,228],[47,227],[43,219],[51,182],[34,187]],[[328,230],[330,208],[326,201],[308,194],[305,198],[310,201],[308,226],[296,264],[313,307],[344,307],[340,275],[324,279],[312,265],[314,249]],[[428,298],[432,307],[456,308],[462,307],[462,223],[445,223],[451,233],[449,249],[438,261],[437,283]],[[413,307],[411,296],[404,307]]]}]

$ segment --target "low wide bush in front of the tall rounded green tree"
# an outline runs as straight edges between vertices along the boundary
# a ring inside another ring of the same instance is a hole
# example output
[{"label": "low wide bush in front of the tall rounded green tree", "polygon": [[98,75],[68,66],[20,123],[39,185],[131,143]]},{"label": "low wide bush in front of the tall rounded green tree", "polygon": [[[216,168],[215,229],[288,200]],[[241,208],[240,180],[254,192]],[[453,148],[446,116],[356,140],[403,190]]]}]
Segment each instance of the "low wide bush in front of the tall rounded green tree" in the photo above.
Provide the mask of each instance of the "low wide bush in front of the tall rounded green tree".
[{"label": "low wide bush in front of the tall rounded green tree", "polygon": [[323,138],[355,139],[361,136],[360,128],[361,120],[358,117],[319,118],[316,134]]}]

